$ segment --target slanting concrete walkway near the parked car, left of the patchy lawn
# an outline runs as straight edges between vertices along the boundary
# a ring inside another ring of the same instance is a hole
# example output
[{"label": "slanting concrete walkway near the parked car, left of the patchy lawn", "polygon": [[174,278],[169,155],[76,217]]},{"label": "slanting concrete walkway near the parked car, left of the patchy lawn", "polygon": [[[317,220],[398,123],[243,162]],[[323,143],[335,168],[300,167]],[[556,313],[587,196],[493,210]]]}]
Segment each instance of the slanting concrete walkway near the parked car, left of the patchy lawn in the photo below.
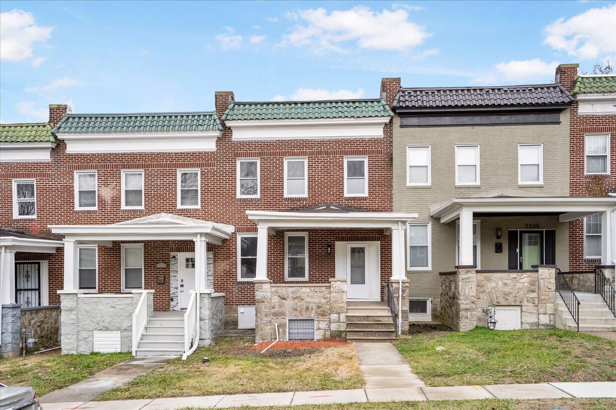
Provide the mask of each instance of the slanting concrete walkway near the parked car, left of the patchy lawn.
[{"label": "slanting concrete walkway near the parked car, left of the patchy lawn", "polygon": [[[123,361],[103,371],[99,371],[99,373],[89,379],[41,396],[41,403],[45,404],[44,407],[47,409],[49,407],[47,403],[94,400],[108,390],[111,390],[111,388],[128,383],[135,377],[148,373],[148,371],[157,368],[172,358],[174,357],[136,357]],[[120,408],[116,408],[116,410],[118,409]]]}]

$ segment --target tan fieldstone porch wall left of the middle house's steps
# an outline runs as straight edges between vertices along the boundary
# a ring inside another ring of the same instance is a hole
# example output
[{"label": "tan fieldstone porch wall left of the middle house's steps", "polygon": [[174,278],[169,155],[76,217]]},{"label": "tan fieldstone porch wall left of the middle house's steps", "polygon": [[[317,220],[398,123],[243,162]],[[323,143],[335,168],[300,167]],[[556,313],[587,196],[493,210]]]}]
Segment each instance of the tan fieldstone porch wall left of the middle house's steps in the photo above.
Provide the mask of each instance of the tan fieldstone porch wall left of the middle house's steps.
[{"label": "tan fieldstone porch wall left of the middle house's steps", "polygon": [[330,283],[272,284],[254,280],[256,342],[286,340],[288,318],[314,318],[315,338],[346,338],[346,279]]}]

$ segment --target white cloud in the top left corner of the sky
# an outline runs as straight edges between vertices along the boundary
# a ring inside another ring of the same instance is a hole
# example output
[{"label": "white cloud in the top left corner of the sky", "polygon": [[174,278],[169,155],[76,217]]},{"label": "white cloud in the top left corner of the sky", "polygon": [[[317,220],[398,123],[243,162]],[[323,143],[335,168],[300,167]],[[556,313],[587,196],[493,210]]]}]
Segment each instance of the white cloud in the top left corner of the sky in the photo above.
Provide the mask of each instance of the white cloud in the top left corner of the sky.
[{"label": "white cloud in the top left corner of the sky", "polygon": [[32,44],[47,41],[52,30],[52,27],[37,26],[33,15],[23,10],[0,13],[0,60],[31,58]]}]

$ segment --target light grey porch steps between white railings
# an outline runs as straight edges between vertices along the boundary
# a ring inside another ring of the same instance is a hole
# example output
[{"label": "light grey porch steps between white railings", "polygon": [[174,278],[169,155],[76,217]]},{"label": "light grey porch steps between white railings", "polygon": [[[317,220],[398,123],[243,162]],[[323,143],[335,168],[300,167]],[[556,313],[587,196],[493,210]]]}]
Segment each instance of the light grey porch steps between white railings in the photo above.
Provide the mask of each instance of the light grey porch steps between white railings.
[{"label": "light grey porch steps between white railings", "polygon": [[137,346],[137,356],[184,354],[184,312],[154,312]]}]

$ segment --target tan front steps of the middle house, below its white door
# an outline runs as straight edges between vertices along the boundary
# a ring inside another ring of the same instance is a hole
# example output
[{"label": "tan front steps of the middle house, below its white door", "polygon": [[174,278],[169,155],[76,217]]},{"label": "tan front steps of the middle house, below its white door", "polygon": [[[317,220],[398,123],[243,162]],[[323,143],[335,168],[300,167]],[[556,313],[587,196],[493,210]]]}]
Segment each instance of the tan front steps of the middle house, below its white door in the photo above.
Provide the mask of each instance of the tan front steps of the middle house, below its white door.
[{"label": "tan front steps of the middle house, below its white door", "polygon": [[347,302],[347,341],[395,341],[395,326],[386,302]]}]

